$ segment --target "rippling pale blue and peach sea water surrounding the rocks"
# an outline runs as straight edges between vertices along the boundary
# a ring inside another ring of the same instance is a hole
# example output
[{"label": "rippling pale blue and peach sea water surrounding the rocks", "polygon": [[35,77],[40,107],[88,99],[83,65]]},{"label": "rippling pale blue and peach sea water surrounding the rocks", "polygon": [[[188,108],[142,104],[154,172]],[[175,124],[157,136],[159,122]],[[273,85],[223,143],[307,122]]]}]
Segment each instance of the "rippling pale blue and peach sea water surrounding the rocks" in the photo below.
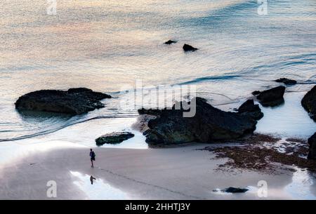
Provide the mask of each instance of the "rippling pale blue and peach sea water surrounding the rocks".
[{"label": "rippling pale blue and peach sea water surrounding the rocks", "polygon": [[[131,130],[136,108],[119,105],[126,84],[195,85],[197,95],[232,110],[251,92],[296,79],[285,103],[263,108],[257,131],[308,138],[316,123],[301,98],[316,83],[316,1],[59,1],[0,3],[0,143],[65,140],[95,145],[110,131]],[[176,44],[167,46],[164,41]],[[183,44],[199,51],[185,53]],[[91,88],[114,98],[70,117],[17,112],[20,95],[41,89]],[[127,145],[146,147],[141,134]],[[128,146],[129,147],[129,146]],[[131,146],[133,147],[133,146]]]}]

